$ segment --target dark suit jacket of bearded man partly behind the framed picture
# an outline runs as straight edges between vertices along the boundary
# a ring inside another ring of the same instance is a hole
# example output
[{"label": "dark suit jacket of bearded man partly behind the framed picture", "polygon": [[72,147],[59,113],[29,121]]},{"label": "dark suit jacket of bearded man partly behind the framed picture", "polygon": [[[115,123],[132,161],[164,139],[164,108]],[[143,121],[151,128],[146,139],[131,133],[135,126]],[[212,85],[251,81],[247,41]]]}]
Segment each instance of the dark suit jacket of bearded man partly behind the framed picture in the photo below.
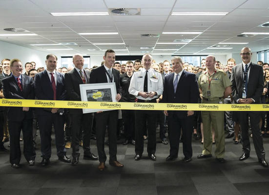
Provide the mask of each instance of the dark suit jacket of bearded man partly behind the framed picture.
[{"label": "dark suit jacket of bearded man partly behind the framed picture", "polygon": [[[89,83],[90,71],[85,69],[85,74],[86,83]],[[81,101],[80,84],[83,84],[83,80],[75,68],[64,75],[64,84],[66,86],[67,99],[71,101]],[[82,113],[82,109],[70,109],[70,114]]]}]

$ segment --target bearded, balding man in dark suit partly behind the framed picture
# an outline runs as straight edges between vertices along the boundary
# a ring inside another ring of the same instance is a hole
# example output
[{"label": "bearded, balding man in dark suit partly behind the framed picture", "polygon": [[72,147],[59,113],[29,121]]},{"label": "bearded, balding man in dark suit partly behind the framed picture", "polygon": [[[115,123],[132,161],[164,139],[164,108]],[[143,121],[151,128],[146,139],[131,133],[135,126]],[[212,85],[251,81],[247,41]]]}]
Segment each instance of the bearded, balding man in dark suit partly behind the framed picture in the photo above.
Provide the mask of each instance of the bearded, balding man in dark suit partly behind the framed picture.
[{"label": "bearded, balding man in dark suit partly behind the framed picture", "polygon": [[[81,101],[80,84],[89,83],[90,71],[83,68],[84,59],[80,54],[73,56],[73,64],[75,68],[64,75],[67,97],[72,101]],[[98,160],[98,157],[90,151],[93,113],[83,114],[82,109],[70,109],[69,114],[72,132],[72,165],[76,165],[79,162],[81,128],[83,128],[83,158]]]}]

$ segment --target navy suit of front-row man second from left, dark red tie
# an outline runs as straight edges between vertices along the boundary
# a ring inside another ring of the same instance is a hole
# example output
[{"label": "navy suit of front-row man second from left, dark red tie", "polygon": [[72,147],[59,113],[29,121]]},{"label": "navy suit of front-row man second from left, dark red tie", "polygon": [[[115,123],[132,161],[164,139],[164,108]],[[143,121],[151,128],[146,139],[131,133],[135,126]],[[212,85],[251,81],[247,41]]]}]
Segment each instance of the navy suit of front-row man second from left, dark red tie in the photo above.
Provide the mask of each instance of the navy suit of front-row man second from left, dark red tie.
[{"label": "navy suit of front-row man second from left, dark red tie", "polygon": [[[55,76],[54,76],[55,77]],[[61,73],[56,72],[56,100],[66,99],[66,90],[64,87],[64,77]],[[34,79],[35,94],[37,99],[53,100],[54,94],[52,84],[47,71],[35,75]],[[55,142],[57,155],[65,155],[64,148],[64,118],[59,113],[51,113],[43,108],[36,109],[41,137],[41,153],[43,158],[51,156],[51,128],[55,130]]]}]

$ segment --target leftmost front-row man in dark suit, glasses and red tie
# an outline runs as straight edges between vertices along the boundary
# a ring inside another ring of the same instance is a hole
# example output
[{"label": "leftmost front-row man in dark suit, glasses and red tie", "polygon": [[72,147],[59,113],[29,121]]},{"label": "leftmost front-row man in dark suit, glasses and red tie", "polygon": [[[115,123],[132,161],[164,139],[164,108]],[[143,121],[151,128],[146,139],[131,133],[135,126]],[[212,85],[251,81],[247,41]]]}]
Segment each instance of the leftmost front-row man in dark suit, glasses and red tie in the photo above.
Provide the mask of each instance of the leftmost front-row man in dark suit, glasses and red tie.
[{"label": "leftmost front-row man in dark suit, glasses and red tie", "polygon": [[[10,99],[34,99],[34,85],[31,77],[22,75],[22,64],[19,59],[10,62],[11,76],[2,80],[3,94]],[[8,129],[10,134],[10,163],[13,168],[20,167],[20,135],[23,134],[23,154],[30,166],[35,164],[33,146],[33,113],[29,107],[9,107],[7,110]]]}]

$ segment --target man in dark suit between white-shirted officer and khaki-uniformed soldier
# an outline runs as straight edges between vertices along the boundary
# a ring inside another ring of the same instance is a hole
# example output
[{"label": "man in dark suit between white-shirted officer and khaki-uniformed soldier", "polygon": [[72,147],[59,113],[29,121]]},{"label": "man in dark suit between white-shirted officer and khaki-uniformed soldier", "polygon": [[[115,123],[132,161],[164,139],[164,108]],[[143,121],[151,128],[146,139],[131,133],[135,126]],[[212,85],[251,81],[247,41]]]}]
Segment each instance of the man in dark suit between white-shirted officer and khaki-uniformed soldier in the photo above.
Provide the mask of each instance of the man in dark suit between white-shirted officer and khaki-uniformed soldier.
[{"label": "man in dark suit between white-shirted officer and khaki-uniformed soldier", "polygon": [[[197,103],[199,88],[196,76],[183,70],[182,59],[174,57],[172,67],[174,74],[165,78],[162,102],[164,103]],[[184,93],[183,93],[184,92]],[[194,111],[164,111],[168,119],[170,154],[166,161],[178,157],[180,133],[183,136],[183,162],[191,161],[192,147],[191,135],[193,129]]]}]

